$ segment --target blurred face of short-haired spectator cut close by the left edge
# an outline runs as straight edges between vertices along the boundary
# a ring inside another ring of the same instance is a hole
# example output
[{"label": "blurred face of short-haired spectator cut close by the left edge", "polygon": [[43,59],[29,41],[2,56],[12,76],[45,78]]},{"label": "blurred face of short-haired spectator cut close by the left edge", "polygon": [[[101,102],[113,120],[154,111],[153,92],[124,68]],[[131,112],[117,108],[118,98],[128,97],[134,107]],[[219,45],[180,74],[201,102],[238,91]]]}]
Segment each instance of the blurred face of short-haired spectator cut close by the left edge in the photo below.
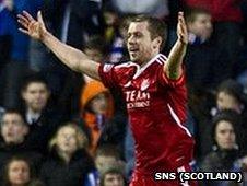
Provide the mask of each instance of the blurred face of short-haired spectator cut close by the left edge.
[{"label": "blurred face of short-haired spectator cut close by the left edge", "polygon": [[7,143],[21,143],[28,129],[22,116],[17,113],[7,113],[2,117],[1,135]]}]

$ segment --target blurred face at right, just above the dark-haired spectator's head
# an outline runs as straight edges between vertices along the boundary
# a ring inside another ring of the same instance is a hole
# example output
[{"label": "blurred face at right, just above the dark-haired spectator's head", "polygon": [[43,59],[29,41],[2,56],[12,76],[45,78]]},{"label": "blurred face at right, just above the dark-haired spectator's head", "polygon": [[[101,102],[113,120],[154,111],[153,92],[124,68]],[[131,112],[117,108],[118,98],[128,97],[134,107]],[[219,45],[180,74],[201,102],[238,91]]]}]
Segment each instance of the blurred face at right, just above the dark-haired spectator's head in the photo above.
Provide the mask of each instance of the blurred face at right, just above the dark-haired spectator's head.
[{"label": "blurred face at right, just above the dark-haired spectator's head", "polygon": [[240,112],[240,103],[233,95],[227,94],[226,92],[219,92],[216,97],[217,108],[219,109],[233,109],[237,113]]}]

